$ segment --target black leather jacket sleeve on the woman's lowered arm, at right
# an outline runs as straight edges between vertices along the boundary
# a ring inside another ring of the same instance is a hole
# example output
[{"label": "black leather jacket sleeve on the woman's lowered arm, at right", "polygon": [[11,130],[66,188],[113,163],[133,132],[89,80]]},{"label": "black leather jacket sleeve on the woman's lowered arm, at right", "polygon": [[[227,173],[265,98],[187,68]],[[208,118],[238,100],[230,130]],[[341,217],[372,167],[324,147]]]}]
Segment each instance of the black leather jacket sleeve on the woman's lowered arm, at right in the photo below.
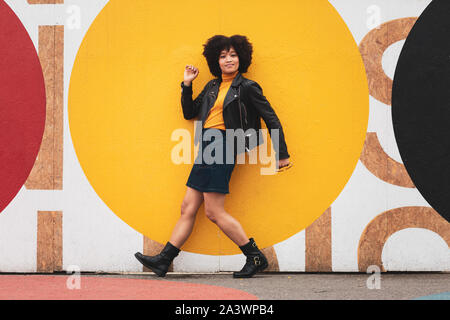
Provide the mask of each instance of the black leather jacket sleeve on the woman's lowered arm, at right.
[{"label": "black leather jacket sleeve on the woman's lowered arm, at right", "polygon": [[[281,160],[289,158],[290,155],[288,153],[286,141],[284,139],[283,127],[281,126],[281,122],[278,119],[269,101],[267,101],[266,97],[263,95],[261,86],[257,82],[252,81],[247,85],[247,92],[249,102],[266,123],[266,126],[269,129],[270,137],[272,138],[271,129],[279,129],[278,159]],[[273,139],[272,144],[277,145],[277,143],[274,143]],[[277,150],[275,149],[275,151]]]}]

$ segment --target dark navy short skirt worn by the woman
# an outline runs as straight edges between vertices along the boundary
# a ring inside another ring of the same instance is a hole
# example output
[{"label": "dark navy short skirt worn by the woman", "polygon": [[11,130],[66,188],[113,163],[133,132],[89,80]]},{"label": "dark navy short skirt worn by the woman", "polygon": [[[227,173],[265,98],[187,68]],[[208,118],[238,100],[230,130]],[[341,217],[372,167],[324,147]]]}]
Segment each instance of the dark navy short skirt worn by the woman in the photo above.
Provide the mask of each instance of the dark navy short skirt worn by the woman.
[{"label": "dark navy short skirt worn by the woman", "polygon": [[[216,133],[220,133],[220,137],[216,139],[213,135],[210,141],[205,140],[203,136],[206,130],[216,130]],[[236,164],[236,154],[234,154],[232,163],[226,163],[226,155],[227,153],[233,152],[233,149],[230,144],[227,145],[225,133],[226,131],[222,129],[202,128],[202,136],[200,139],[202,148],[198,151],[186,186],[201,192],[230,193],[229,183],[231,173]],[[208,148],[210,150],[205,150],[213,142],[216,143]],[[222,156],[218,154],[216,157],[214,148],[220,148],[222,150]],[[212,163],[211,160],[213,160]]]}]

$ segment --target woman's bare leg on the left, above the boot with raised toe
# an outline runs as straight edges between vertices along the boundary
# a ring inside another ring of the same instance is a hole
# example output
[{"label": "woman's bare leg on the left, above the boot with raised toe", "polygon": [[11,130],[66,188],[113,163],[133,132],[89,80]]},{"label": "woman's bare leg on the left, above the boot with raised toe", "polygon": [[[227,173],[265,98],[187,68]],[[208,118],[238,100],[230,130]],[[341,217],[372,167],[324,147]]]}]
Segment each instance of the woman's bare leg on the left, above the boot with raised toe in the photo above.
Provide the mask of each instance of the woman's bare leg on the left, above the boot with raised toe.
[{"label": "woman's bare leg on the left, above the boot with raised toe", "polygon": [[203,192],[187,187],[181,203],[181,216],[175,225],[169,242],[178,249],[186,242],[194,228],[195,216],[203,202]]}]

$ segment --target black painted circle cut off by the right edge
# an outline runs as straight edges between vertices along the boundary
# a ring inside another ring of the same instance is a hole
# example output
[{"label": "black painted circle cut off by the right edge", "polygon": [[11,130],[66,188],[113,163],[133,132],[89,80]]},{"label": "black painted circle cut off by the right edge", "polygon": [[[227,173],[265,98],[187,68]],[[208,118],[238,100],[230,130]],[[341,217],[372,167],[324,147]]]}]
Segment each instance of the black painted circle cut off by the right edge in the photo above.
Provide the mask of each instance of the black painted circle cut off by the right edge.
[{"label": "black painted circle cut off by the right edge", "polygon": [[434,0],[405,41],[392,88],[403,163],[425,200],[450,221],[450,1]]}]

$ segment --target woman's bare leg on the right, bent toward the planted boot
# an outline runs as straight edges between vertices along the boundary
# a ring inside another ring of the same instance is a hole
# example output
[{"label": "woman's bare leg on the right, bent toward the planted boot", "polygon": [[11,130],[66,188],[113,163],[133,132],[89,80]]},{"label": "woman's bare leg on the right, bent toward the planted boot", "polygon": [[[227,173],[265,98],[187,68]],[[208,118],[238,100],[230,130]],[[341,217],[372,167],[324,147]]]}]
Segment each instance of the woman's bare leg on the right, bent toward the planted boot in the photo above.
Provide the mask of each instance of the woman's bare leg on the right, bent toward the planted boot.
[{"label": "woman's bare leg on the right, bent toward the planted boot", "polygon": [[243,246],[249,242],[241,224],[224,209],[226,194],[204,192],[206,216],[214,222],[236,245]]}]

